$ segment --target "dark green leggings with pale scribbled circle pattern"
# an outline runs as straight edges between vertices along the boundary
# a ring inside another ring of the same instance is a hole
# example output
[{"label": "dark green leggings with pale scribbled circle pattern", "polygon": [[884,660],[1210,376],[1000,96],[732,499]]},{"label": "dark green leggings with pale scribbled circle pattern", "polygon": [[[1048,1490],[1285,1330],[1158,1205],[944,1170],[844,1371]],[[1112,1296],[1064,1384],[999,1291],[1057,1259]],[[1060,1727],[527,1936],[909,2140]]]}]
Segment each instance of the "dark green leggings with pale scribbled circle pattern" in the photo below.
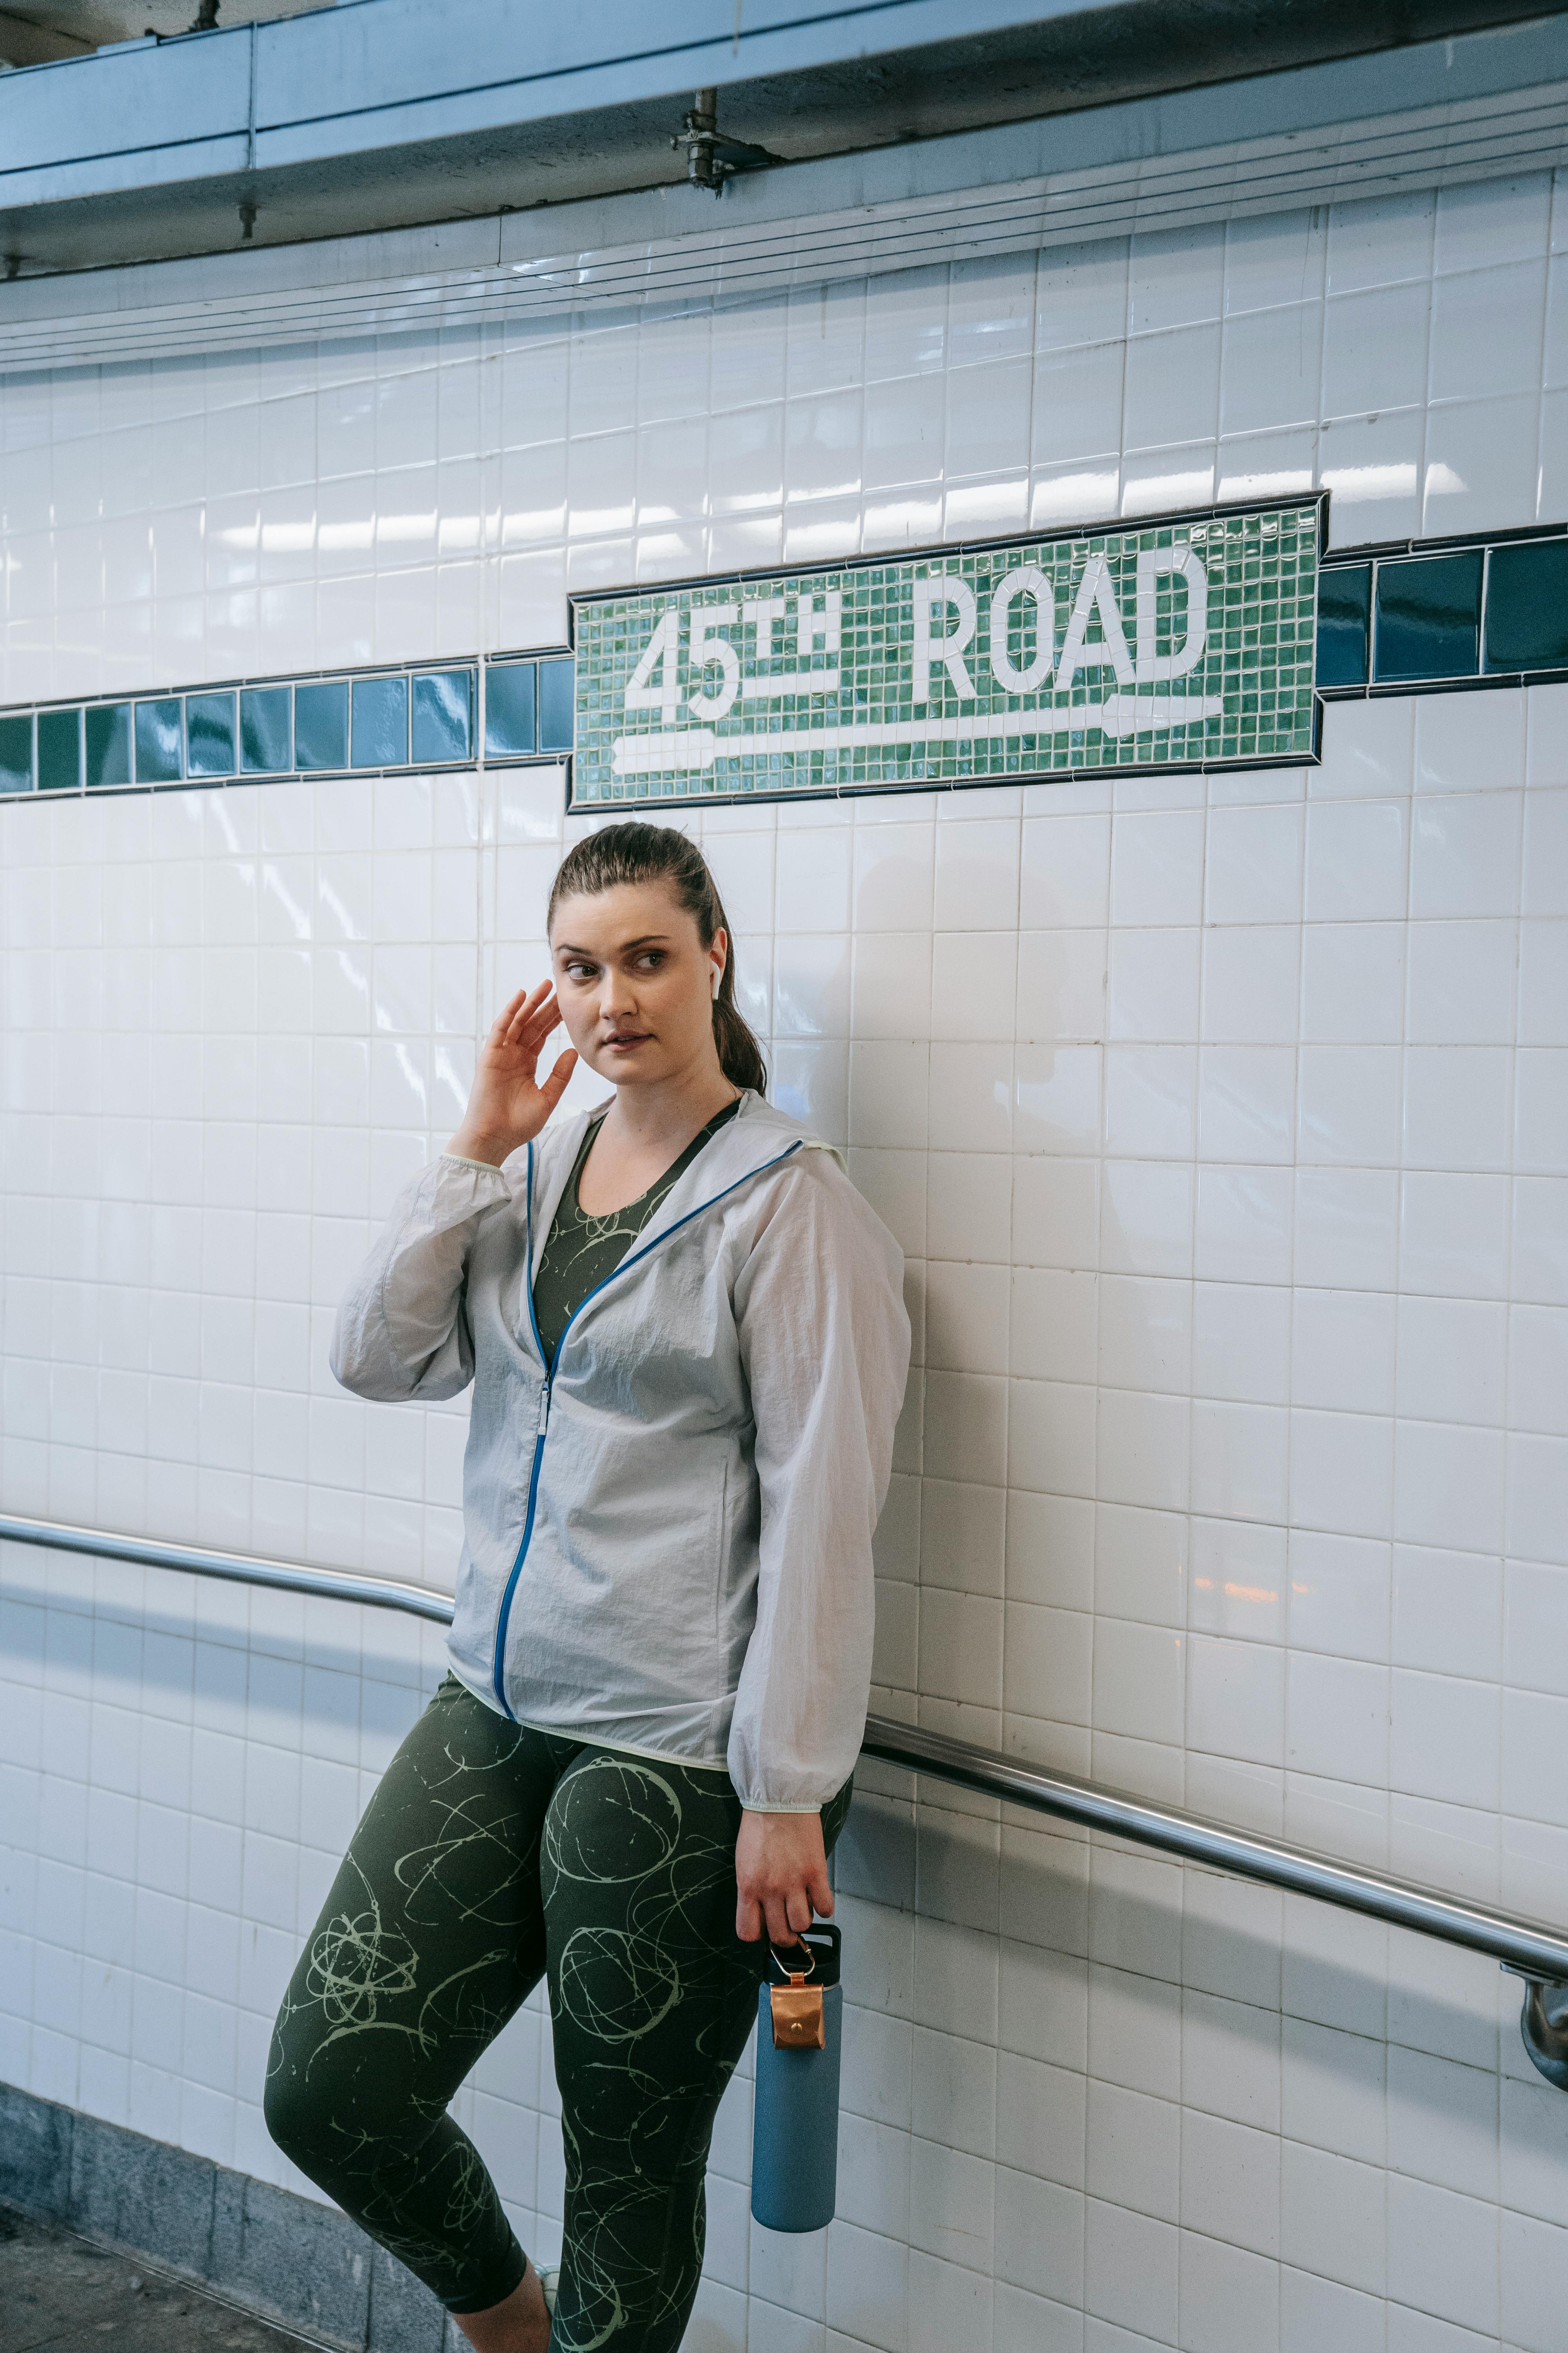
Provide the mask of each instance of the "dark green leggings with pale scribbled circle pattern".
[{"label": "dark green leggings with pale scribbled circle pattern", "polygon": [[[849,1784],[823,1807],[832,1847]],[[454,2313],[524,2257],[447,2104],[543,1974],[567,2144],[559,2353],[672,2353],[708,2141],[757,2014],[729,1777],[512,1725],[447,1675],[277,2012],[277,2146]]]}]

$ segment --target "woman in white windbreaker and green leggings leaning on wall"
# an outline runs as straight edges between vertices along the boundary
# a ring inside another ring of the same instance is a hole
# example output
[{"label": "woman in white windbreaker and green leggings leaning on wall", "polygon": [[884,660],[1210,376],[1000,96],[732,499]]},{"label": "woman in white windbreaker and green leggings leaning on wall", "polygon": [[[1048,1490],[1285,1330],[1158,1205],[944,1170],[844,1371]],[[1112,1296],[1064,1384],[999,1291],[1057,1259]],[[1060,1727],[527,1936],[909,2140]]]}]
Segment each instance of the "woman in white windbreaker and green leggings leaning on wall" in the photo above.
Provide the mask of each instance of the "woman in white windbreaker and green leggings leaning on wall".
[{"label": "woman in white windbreaker and green leggings leaning on wall", "polygon": [[[609,826],[548,925],[552,984],[503,1009],[339,1311],[357,1395],[475,1384],[465,1541],[451,1673],[294,1969],[266,2115],[480,2353],[668,2353],[757,1939],[832,1911],[910,1325],[898,1245],[764,1101],[701,852]],[[545,1132],[578,1056],[609,1111]],[[447,2115],[541,1977],[545,2282]]]}]

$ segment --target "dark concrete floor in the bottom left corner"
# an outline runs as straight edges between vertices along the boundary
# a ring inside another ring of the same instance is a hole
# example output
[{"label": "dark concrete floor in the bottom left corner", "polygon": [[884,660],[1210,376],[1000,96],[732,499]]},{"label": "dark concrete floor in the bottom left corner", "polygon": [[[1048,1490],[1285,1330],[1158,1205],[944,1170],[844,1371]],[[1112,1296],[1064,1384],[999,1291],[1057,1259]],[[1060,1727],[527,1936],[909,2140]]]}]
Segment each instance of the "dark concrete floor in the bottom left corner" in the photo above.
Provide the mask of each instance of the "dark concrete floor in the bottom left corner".
[{"label": "dark concrete floor in the bottom left corner", "polygon": [[306,2341],[0,2207],[0,2353],[299,2353]]}]

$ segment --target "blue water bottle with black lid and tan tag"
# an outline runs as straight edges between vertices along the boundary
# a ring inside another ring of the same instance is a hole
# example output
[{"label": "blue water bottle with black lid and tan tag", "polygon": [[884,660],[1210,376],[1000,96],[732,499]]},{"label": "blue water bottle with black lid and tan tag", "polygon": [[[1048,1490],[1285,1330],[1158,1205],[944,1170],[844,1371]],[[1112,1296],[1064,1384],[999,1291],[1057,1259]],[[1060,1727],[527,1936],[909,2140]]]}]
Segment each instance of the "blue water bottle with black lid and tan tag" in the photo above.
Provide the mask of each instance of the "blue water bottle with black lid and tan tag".
[{"label": "blue water bottle with black lid and tan tag", "polygon": [[771,1946],[757,1986],[752,2214],[766,2231],[825,2231],[839,2188],[839,1929]]}]

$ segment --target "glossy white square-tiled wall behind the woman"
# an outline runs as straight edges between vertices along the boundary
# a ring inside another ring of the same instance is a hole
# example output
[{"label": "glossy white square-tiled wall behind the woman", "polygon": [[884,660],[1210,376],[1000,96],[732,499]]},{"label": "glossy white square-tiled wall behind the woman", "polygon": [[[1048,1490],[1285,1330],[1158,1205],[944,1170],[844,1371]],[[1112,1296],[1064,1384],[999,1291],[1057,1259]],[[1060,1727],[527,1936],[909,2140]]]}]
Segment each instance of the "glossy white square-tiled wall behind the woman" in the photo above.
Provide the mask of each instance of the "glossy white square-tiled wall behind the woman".
[{"label": "glossy white square-tiled wall behind the woman", "polygon": [[[1340,544],[1561,522],[1563,219],[1537,179],[14,379],[5,694],[559,642],[567,586],[1319,480]],[[1568,692],[1335,706],[1324,753],[701,831],[776,1092],[910,1254],[882,1706],[1561,1920]],[[324,1320],[538,969],[559,807],[0,809],[12,1511],[451,1581],[463,1414],[334,1393]],[[268,2019],[437,1664],[12,1548],[0,2073],[282,2177]],[[856,1838],[842,2219],[748,2238],[741,2085],[693,2344],[1559,2353],[1568,2099],[1514,1981],[961,1800]],[[538,2252],[548,2078],[529,2009],[463,2094]]]}]

